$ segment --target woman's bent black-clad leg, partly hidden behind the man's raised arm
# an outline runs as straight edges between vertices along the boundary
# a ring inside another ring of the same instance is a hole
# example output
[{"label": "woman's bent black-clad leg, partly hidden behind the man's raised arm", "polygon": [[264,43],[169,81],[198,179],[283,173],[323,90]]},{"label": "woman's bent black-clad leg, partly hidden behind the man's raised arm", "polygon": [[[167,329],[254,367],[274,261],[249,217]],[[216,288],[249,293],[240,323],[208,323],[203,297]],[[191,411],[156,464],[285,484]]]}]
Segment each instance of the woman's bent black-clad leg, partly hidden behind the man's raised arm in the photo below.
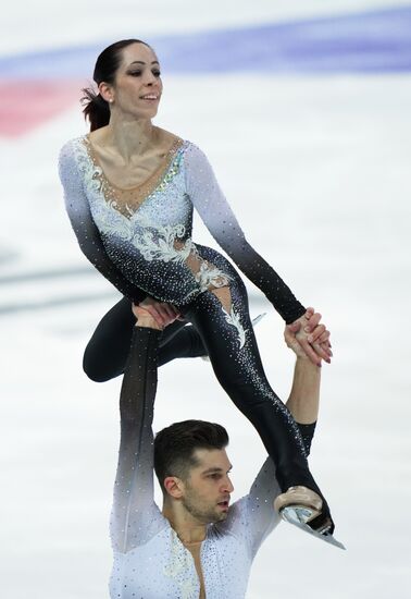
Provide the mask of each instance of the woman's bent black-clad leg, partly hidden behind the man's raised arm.
[{"label": "woman's bent black-clad leg, partly hidden behind the man's raised arm", "polygon": [[[100,320],[88,342],[83,369],[96,382],[110,380],[124,372],[136,317],[126,297],[117,302]],[[176,320],[161,335],[159,366],[176,357],[197,357],[207,351],[191,325]]]}]

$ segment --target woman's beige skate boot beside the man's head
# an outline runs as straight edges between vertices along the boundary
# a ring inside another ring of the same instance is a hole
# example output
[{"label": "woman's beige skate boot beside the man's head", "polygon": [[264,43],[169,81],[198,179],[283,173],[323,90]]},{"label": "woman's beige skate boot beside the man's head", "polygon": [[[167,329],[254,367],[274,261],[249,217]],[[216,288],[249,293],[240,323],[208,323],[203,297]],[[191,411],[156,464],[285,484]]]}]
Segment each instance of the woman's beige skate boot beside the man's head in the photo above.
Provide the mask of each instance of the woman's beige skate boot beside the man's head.
[{"label": "woman's beige skate boot beside the man's head", "polygon": [[307,487],[289,487],[274,501],[274,509],[291,524],[307,524],[320,535],[332,535],[334,523],[327,504]]}]

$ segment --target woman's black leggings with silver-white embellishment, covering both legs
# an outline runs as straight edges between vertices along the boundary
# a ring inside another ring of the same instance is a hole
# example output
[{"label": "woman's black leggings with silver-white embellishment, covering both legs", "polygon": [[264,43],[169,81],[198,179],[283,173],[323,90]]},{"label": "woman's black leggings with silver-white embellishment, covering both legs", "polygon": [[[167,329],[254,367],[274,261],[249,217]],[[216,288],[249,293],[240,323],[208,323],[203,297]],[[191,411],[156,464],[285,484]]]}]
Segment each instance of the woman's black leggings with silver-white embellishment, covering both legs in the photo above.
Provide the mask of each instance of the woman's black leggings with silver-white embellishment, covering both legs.
[{"label": "woman's black leggings with silver-white embellishment, covering both legs", "polygon": [[[208,354],[220,384],[256,427],[273,457],[281,489],[303,485],[323,497],[309,470],[301,429],[265,377],[246,288],[234,269],[231,274],[231,305],[225,309],[215,293],[205,291],[180,308],[192,326],[175,321],[166,327],[160,341],[159,365],[175,357]],[[100,382],[124,371],[135,323],[126,298],[102,318],[84,355],[84,370],[89,378]]]}]

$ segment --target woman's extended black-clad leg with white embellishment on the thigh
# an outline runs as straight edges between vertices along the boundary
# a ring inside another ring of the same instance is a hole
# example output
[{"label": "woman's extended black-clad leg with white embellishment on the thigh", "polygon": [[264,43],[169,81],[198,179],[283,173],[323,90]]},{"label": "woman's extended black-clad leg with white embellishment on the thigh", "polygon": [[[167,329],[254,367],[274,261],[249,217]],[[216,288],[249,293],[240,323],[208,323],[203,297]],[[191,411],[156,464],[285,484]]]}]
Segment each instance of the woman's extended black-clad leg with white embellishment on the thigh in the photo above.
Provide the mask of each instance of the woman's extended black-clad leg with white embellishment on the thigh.
[{"label": "woman's extended black-clad leg with white embellishment on the thigh", "polygon": [[184,315],[202,338],[220,383],[273,457],[282,490],[302,485],[321,494],[300,431],[265,377],[240,278],[233,278],[229,288],[200,294]]}]

